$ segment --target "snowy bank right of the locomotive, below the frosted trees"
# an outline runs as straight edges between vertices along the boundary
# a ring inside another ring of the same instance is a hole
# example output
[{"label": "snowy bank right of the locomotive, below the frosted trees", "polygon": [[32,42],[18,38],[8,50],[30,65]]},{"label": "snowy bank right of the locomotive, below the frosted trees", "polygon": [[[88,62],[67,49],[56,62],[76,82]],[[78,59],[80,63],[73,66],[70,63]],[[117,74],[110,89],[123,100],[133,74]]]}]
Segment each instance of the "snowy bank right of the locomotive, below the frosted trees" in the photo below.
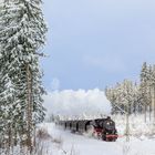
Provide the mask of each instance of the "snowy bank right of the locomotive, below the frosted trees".
[{"label": "snowy bank right of the locomotive, below the frosted trees", "polygon": [[[116,128],[120,135],[125,134],[126,130],[126,116],[125,115],[112,115],[112,118],[116,123]],[[155,137],[155,121],[154,117],[151,120],[147,117],[145,122],[144,114],[133,114],[128,117],[130,122],[130,134],[138,137],[140,140],[144,136]]]}]

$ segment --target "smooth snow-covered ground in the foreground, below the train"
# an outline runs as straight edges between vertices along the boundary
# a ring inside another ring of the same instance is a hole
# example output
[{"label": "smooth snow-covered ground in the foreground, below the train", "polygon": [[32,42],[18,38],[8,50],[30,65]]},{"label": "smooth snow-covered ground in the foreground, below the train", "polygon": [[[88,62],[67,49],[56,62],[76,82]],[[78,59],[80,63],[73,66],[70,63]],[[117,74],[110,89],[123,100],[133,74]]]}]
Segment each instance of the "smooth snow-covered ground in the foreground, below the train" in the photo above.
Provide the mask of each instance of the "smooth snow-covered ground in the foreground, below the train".
[{"label": "smooth snow-covered ground in the foreground, below the train", "polygon": [[54,123],[41,124],[52,138],[44,141],[43,155],[155,155],[155,140],[122,136],[117,142],[103,142],[93,137],[72,134]]}]

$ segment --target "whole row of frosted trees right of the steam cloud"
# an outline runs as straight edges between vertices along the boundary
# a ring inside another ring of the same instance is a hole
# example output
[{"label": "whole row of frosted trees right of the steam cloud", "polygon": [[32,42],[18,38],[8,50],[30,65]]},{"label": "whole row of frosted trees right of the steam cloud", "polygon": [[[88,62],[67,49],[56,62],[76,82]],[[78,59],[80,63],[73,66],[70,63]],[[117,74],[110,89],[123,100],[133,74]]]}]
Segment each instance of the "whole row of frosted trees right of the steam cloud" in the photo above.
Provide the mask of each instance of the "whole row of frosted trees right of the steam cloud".
[{"label": "whole row of frosted trees right of the steam cloud", "polygon": [[144,113],[149,116],[155,111],[155,65],[143,63],[140,82],[124,80],[113,87],[105,89],[106,97],[112,103],[112,113]]}]

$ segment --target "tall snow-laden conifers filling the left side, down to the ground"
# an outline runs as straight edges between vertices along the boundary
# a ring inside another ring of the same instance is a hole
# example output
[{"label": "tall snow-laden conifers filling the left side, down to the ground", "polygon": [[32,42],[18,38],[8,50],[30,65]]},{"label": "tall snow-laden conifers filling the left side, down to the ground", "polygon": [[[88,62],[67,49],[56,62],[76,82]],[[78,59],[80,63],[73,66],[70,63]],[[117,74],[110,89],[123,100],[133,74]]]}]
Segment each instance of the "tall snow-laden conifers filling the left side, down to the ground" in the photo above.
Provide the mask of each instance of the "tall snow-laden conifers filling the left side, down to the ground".
[{"label": "tall snow-laden conifers filling the left side, down to the ground", "polygon": [[33,152],[35,126],[44,117],[38,51],[45,32],[41,0],[0,3],[1,155]]}]

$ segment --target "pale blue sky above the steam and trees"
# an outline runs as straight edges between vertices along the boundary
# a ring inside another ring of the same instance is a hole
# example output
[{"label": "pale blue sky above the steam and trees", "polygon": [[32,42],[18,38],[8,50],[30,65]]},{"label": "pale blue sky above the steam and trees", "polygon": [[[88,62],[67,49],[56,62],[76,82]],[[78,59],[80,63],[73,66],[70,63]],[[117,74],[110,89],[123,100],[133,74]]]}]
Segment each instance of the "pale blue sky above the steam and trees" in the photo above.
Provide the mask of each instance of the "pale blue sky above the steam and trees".
[{"label": "pale blue sky above the steam and trees", "polygon": [[43,0],[46,90],[104,90],[138,81],[155,61],[154,0]]}]

